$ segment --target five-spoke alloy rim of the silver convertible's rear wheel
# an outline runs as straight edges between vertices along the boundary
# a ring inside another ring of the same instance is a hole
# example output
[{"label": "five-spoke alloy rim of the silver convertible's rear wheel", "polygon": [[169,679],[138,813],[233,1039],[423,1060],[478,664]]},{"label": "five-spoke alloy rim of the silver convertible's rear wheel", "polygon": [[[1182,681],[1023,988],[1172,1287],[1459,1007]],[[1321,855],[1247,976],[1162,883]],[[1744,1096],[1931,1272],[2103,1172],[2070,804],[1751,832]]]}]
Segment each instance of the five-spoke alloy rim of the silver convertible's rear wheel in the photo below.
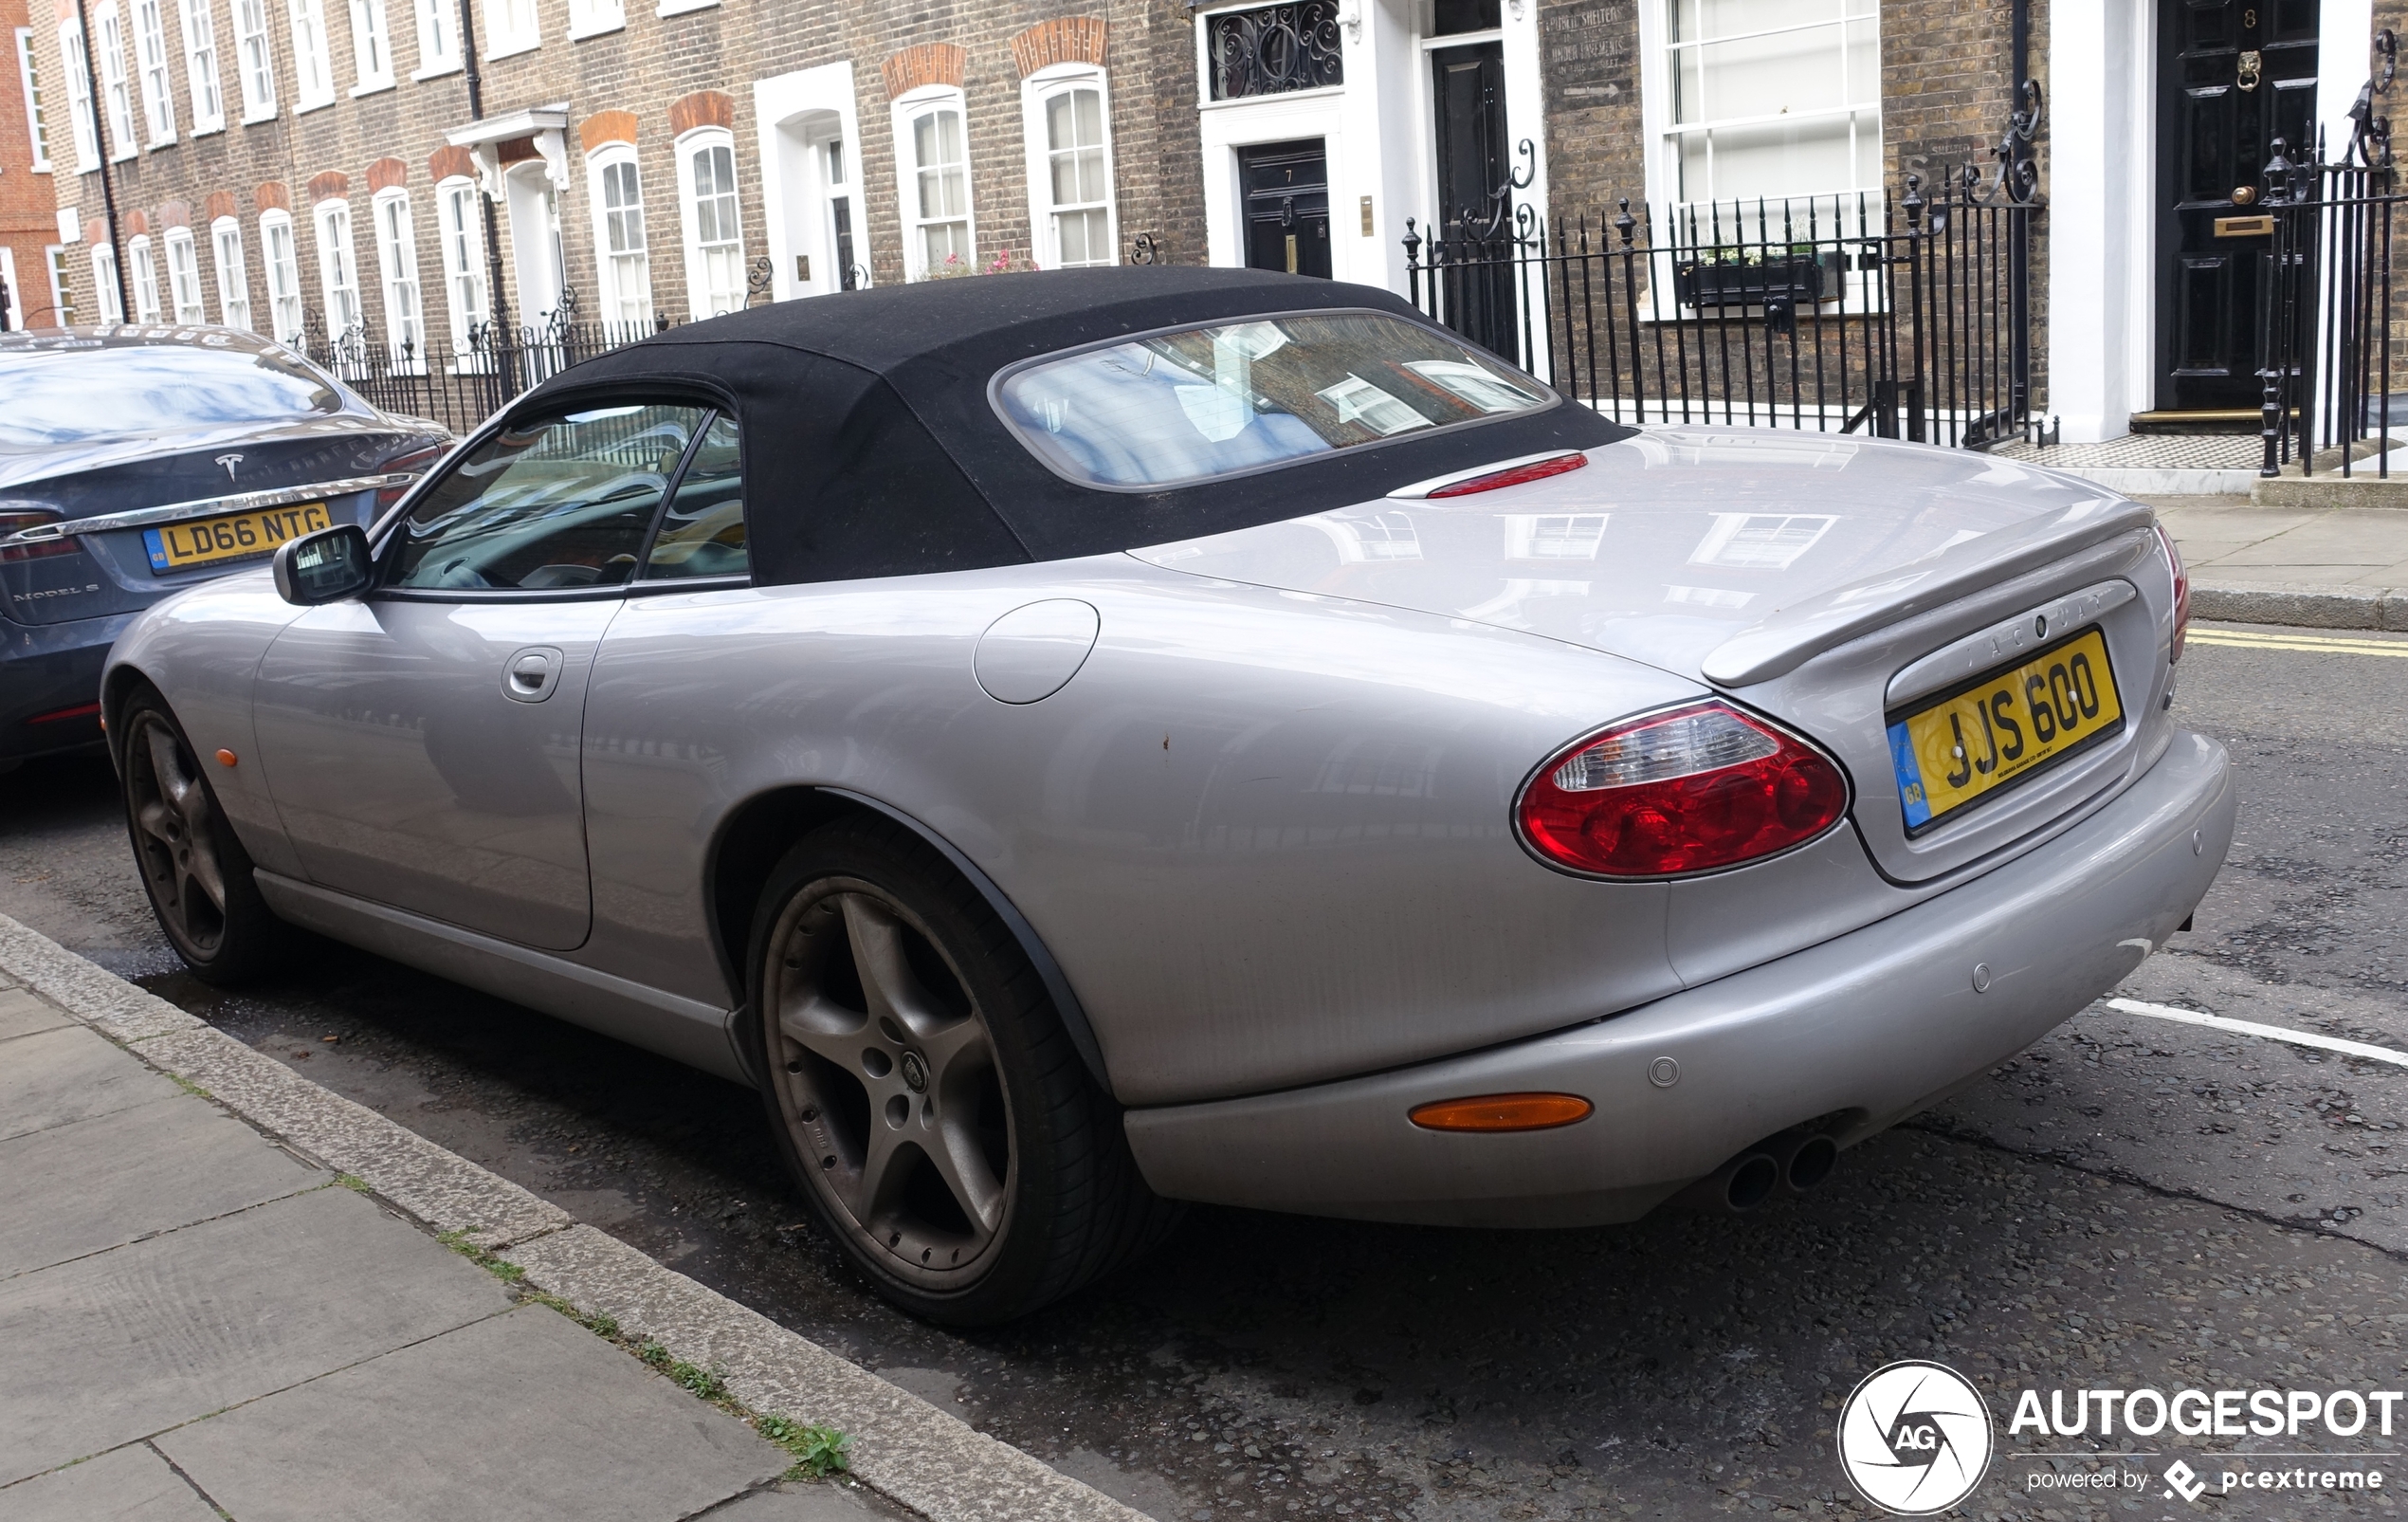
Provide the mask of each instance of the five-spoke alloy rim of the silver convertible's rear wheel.
[{"label": "five-spoke alloy rim of the silver convertible's rear wheel", "polygon": [[1011,1113],[929,927],[869,881],[809,884],[768,939],[763,1016],[778,1110],[831,1214],[910,1284],[982,1276],[1011,1214]]}]

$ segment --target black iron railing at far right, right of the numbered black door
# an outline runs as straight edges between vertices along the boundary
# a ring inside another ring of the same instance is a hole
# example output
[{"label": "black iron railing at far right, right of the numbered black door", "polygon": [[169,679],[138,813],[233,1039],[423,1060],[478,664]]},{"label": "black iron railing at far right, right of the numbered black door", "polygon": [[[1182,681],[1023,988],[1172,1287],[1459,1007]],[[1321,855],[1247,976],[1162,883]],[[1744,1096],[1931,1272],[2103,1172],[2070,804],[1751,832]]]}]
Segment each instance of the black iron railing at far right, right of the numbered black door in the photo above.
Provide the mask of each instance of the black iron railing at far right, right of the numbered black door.
[{"label": "black iron railing at far right, right of the numbered black door", "polygon": [[[2391,287],[2394,243],[2408,219],[2391,159],[2391,120],[2377,116],[2398,41],[2374,36],[2374,77],[2350,108],[2350,142],[2331,164],[2324,142],[2295,161],[2276,137],[2261,205],[2273,246],[2261,262],[2259,385],[2266,453],[2259,474],[2324,470],[2391,474],[2394,438],[2408,436],[2408,311]],[[2369,448],[2372,446],[2372,448]]]}]

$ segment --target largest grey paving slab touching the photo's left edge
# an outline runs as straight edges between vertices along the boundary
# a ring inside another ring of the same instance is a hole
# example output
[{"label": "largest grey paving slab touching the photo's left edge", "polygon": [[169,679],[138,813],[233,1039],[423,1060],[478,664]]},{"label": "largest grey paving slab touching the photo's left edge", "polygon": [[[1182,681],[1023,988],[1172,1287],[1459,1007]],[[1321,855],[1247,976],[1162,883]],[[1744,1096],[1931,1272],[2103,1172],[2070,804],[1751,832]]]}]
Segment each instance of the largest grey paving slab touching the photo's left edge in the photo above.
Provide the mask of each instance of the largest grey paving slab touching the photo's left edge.
[{"label": "largest grey paving slab touching the photo's left edge", "polygon": [[508,1308],[337,1187],[19,1274],[0,1284],[0,1486]]}]

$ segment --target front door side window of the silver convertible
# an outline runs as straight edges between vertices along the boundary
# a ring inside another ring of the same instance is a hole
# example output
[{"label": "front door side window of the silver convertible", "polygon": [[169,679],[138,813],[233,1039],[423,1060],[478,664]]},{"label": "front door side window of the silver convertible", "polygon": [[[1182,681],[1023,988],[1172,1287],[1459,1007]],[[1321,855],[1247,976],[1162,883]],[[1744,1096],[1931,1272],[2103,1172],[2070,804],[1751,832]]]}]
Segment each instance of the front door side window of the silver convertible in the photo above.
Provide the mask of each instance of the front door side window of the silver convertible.
[{"label": "front door side window of the silver convertible", "polygon": [[513,421],[402,520],[395,588],[561,590],[628,580],[708,407],[595,407]]}]

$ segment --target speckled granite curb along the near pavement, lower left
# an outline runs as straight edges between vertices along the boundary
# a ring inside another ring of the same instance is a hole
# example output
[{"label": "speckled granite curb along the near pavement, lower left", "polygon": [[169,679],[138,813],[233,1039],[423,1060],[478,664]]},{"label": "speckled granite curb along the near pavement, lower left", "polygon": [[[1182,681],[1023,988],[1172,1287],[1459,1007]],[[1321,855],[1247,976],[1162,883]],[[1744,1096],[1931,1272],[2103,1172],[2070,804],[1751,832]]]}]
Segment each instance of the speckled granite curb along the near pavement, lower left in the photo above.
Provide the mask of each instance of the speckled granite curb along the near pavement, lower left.
[{"label": "speckled granite curb along the near pavement, lower left", "polygon": [[929,1522],[1149,1522],[1141,1512],[939,1411],[510,1180],[246,1048],[166,999],[0,915],[0,973],[258,1129],[364,1180],[438,1233],[465,1233],[583,1312],[718,1368],[754,1411],[843,1428],[852,1474]]}]

